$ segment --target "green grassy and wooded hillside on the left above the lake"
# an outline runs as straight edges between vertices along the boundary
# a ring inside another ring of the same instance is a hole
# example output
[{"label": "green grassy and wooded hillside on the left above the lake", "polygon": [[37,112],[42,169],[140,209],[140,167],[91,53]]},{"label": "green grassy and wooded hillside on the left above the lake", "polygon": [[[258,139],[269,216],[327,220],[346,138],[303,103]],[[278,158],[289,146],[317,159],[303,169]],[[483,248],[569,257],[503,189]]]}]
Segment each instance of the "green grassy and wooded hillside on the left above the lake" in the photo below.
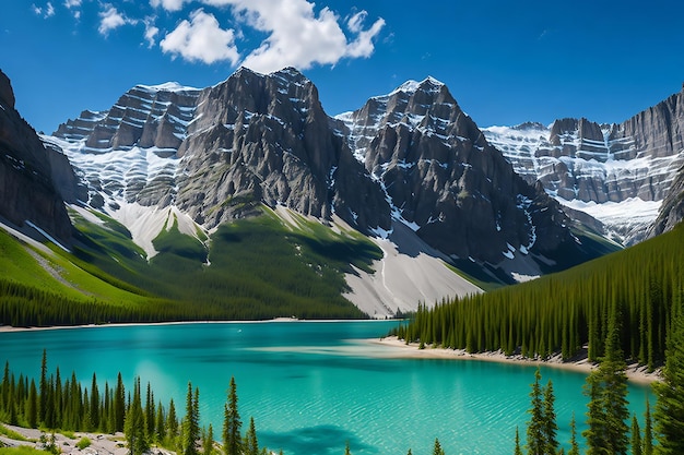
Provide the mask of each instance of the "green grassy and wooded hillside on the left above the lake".
[{"label": "green grassy and wooded hillside on the left above the lake", "polygon": [[292,227],[262,212],[211,238],[186,236],[172,220],[151,261],[102,214],[102,224],[71,214],[71,253],[40,253],[0,230],[0,323],[365,318],[342,297],[344,273],[368,271],[381,251],[354,231],[297,216]]}]

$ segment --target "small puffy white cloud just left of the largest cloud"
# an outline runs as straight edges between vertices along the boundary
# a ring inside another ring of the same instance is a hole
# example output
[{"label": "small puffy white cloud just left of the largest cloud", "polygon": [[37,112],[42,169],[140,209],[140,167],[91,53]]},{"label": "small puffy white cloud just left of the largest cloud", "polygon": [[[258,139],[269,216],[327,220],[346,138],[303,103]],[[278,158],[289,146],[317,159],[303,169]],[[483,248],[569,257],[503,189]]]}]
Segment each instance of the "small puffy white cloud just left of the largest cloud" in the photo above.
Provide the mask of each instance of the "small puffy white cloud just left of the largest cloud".
[{"label": "small puffy white cloud just left of the largest cloud", "polygon": [[190,22],[180,22],[176,29],[162,39],[160,46],[164,52],[180,56],[188,61],[210,64],[227,60],[236,64],[239,60],[234,31],[222,29],[216,17],[201,9],[190,14]]}]

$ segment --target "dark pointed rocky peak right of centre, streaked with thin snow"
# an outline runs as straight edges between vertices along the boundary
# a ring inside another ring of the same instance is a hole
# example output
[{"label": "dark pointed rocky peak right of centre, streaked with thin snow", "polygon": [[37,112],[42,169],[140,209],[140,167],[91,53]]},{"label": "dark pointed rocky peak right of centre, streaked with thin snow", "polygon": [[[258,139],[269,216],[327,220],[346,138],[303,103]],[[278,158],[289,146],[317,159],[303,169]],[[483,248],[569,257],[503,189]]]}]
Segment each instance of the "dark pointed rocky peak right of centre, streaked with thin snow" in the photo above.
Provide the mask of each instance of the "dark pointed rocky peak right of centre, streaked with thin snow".
[{"label": "dark pointed rocky peak right of centre, streaked with thin snow", "polygon": [[569,240],[557,203],[512,171],[440,82],[405,83],[338,119],[393,216],[440,251],[496,264]]}]

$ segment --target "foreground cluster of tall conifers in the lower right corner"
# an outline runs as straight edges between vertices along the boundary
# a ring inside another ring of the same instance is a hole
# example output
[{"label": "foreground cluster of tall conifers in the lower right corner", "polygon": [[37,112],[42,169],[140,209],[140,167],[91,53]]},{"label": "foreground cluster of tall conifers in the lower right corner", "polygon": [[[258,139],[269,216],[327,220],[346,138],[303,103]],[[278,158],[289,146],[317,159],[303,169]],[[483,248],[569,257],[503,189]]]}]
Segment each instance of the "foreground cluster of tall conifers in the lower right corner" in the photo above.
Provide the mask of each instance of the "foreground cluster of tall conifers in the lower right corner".
[{"label": "foreground cluster of tall conifers in the lower right corner", "polygon": [[[605,355],[597,369],[587,378],[585,395],[587,405],[587,455],[674,455],[684,453],[684,310],[679,307],[673,330],[668,336],[663,380],[653,384],[657,403],[651,416],[646,403],[644,430],[638,416],[627,409],[626,362],[620,344],[620,310],[614,307],[609,316]],[[556,438],[558,427],[554,409],[553,383],[541,386],[539,369],[530,392],[527,444],[523,452],[519,429],[516,428],[514,455],[565,454]],[[575,416],[570,421],[570,450],[567,455],[580,455]]]}]

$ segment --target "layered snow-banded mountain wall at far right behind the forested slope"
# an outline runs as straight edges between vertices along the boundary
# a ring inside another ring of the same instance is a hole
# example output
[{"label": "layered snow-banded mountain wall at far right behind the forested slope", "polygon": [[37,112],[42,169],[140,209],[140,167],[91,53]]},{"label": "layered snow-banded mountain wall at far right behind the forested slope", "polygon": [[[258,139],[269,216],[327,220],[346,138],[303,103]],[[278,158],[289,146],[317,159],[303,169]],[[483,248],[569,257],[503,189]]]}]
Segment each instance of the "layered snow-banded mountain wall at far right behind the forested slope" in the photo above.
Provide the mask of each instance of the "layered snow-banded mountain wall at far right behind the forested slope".
[{"label": "layered snow-banded mountain wall at far right behind the forested slope", "polygon": [[648,236],[684,165],[684,91],[620,124],[561,119],[483,132],[528,182],[632,244]]}]

